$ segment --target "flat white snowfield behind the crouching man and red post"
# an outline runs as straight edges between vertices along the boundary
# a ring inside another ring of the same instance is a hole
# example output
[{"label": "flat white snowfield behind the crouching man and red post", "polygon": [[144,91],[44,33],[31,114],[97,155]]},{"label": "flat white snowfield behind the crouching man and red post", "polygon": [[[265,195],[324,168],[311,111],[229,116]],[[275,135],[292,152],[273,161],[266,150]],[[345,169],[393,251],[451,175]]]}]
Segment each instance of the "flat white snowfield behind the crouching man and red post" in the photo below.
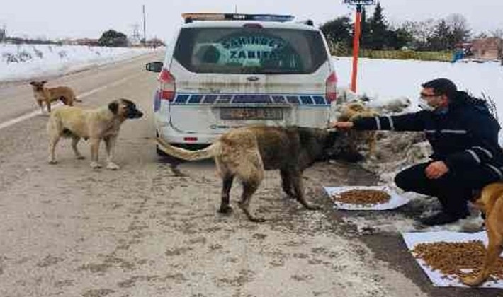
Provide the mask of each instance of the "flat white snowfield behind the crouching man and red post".
[{"label": "flat white snowfield behind the crouching man and red post", "polygon": [[[351,84],[351,61],[349,57],[334,57],[341,87]],[[378,102],[405,96],[416,106],[421,84],[442,77],[451,79],[460,91],[489,95],[499,107],[499,118],[503,119],[503,66],[499,62],[358,59],[356,92]]]}]

